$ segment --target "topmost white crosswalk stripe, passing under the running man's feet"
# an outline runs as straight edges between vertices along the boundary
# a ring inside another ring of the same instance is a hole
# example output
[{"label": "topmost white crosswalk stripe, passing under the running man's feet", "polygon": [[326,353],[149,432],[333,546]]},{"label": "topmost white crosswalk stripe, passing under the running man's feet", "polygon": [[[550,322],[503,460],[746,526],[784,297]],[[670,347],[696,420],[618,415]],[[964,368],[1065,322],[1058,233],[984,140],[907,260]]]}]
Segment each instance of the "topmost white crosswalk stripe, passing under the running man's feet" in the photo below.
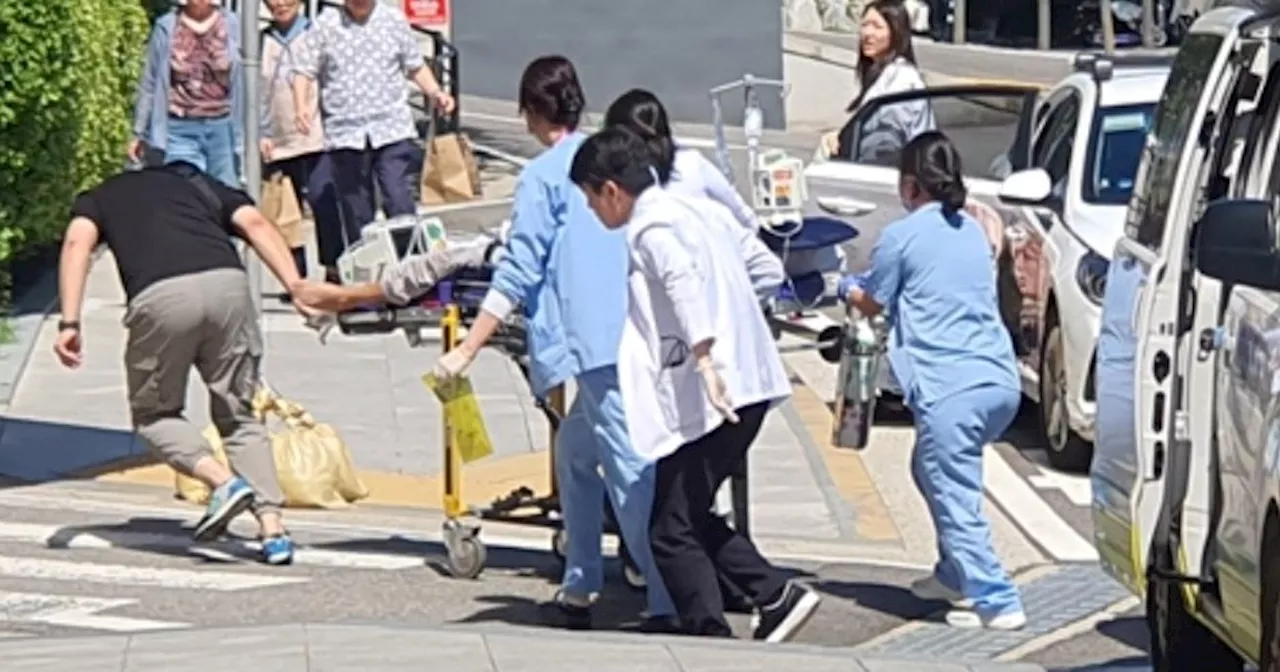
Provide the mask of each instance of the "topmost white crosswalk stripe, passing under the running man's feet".
[{"label": "topmost white crosswalk stripe, passing under the running man's feet", "polygon": [[[191,553],[218,559],[244,559],[244,552],[257,553],[261,545],[256,541],[196,544],[191,538],[173,534],[113,531],[109,536],[74,531],[68,535],[58,525],[35,525],[23,522],[0,522],[0,541],[40,544],[47,548],[156,548],[187,549]],[[239,550],[241,553],[236,553]],[[421,558],[394,553],[357,553],[346,550],[326,550],[301,547],[293,556],[294,564],[315,567],[346,567],[355,570],[406,570],[420,567]],[[239,575],[237,575],[239,576]]]}]

